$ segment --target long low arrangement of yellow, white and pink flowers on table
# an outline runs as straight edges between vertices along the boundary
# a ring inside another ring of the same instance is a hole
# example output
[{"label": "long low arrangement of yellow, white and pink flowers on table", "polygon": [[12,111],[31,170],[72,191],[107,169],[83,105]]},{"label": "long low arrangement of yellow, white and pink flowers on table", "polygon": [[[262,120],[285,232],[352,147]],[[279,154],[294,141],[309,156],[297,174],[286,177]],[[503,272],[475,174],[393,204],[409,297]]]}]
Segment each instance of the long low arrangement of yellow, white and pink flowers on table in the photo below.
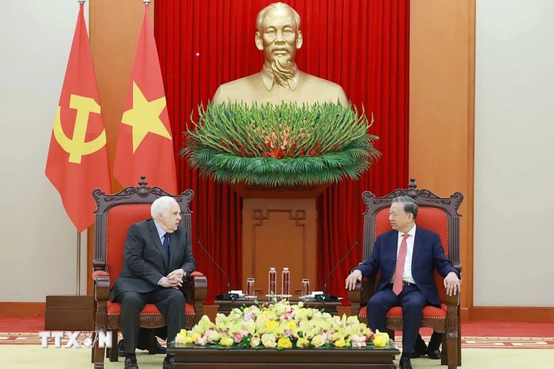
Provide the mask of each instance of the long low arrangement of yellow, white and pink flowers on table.
[{"label": "long low arrangement of yellow, white and pink flowers on table", "polygon": [[215,323],[203,316],[190,331],[182,329],[176,337],[177,346],[212,348],[382,348],[389,344],[387,333],[373,333],[357,316],[331,316],[286,300],[233,309],[228,316],[217,314]]}]

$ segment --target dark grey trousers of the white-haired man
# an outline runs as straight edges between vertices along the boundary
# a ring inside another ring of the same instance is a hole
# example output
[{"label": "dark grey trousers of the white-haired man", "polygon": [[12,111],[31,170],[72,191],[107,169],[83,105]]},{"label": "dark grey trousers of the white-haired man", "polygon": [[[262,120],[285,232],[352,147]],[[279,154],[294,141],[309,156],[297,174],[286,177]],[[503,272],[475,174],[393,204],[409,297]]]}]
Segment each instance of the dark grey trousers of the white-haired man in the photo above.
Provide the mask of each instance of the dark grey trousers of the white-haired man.
[{"label": "dark grey trousers of the white-haired man", "polygon": [[145,304],[156,305],[167,325],[167,342],[175,340],[184,328],[184,294],[174,288],[157,287],[151,292],[123,292],[117,296],[121,302],[121,333],[126,354],[134,354],[139,338],[140,314]]}]

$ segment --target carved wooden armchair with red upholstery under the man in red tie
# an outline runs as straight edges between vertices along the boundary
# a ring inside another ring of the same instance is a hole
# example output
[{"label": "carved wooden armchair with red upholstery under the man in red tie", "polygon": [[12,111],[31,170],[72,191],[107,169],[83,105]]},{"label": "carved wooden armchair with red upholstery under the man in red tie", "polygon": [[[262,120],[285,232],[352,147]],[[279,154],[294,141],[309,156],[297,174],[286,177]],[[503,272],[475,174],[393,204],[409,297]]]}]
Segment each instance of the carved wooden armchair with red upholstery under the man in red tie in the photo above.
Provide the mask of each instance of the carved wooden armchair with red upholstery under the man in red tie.
[{"label": "carved wooden armchair with red upholstery under the man in red tie", "polygon": [[[418,203],[416,224],[439,234],[446,257],[461,275],[458,207],[463,201],[463,194],[455,192],[450,198],[441,198],[429,190],[418,190],[414,178],[410,179],[407,190],[398,189],[384,197],[376,197],[369,191],[363,192],[362,199],[366,206],[363,219],[363,259],[370,257],[377,236],[391,229],[389,207],[392,199],[405,195]],[[361,283],[357,283],[355,290],[348,292],[352,315],[358,316],[361,321],[367,321],[365,305],[375,293],[377,277],[363,278]],[[440,308],[424,307],[422,327],[446,333],[442,335],[441,364],[453,369],[461,366],[460,300],[459,293],[454,296],[446,294],[443,280],[444,278],[435,270],[437,290],[443,305]],[[393,307],[388,311],[387,330],[393,339],[394,331],[402,331],[402,308]]]}]

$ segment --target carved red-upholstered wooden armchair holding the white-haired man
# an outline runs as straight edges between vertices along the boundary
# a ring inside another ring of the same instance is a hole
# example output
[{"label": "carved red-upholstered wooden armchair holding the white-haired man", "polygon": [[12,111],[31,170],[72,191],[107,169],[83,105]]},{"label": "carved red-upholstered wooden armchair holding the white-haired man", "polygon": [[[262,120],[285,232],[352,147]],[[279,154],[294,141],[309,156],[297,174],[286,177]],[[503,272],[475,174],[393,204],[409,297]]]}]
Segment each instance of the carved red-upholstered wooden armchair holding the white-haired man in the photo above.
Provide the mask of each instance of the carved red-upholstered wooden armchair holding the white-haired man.
[{"label": "carved red-upholstered wooden armchair holding the white-haired man", "polygon": [[[97,189],[93,198],[97,203],[95,212],[95,258],[93,261],[93,280],[95,296],[95,332],[112,331],[112,345],[106,356],[110,361],[118,360],[117,332],[121,303],[110,301],[110,289],[123,268],[123,246],[129,227],[141,220],[151,218],[150,205],[160,196],[173,196],[158,187],[147,187],[145,177],[141,177],[138,187],[128,187],[117,194],[105,194]],[[191,210],[189,204],[194,196],[192,190],[173,196],[181,208],[181,225],[189,231],[191,237]],[[193,272],[185,280],[181,290],[186,294],[186,328],[191,329],[202,318],[203,304],[208,292],[206,277]],[[165,319],[154,304],[146,304],[141,312],[141,327],[159,328],[165,326]],[[150,353],[155,348],[154,331],[150,340]],[[92,361],[95,368],[104,368],[104,348],[99,342],[93,346]]]}]

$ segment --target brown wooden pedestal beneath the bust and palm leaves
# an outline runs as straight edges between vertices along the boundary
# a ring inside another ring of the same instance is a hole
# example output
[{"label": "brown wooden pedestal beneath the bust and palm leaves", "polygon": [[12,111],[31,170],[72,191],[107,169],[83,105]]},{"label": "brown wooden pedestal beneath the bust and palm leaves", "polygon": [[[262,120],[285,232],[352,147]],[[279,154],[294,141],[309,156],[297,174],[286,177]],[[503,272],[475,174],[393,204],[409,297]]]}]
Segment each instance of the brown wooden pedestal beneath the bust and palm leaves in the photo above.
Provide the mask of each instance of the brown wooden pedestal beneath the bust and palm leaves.
[{"label": "brown wooden pedestal beneath the bust and palm leaves", "polygon": [[256,294],[268,293],[269,268],[289,268],[290,293],[299,295],[303,278],[315,290],[317,278],[317,196],[328,184],[318,186],[267,187],[230,185],[243,197],[242,289],[246,279],[256,280]]}]

